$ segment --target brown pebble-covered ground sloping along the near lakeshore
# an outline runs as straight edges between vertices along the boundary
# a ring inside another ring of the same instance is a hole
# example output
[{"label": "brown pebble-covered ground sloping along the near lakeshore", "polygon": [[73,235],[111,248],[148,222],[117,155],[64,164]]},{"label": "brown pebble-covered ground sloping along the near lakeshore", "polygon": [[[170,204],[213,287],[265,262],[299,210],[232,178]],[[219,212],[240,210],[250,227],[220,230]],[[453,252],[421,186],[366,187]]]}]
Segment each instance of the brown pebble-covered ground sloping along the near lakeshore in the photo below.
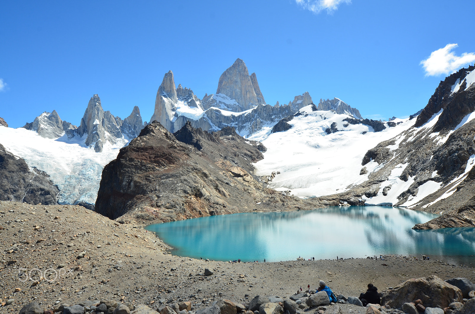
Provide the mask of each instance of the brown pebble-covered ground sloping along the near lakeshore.
[{"label": "brown pebble-covered ground sloping along the near lakeshore", "polygon": [[[345,296],[359,296],[370,282],[382,291],[430,275],[475,282],[474,268],[415,257],[228,263],[172,256],[141,224],[120,224],[73,205],[0,202],[0,246],[1,313],[18,313],[32,301],[53,309],[109,299],[152,308],[189,300],[197,310],[219,297],[289,297],[321,279]],[[205,268],[213,275],[204,276]]]}]

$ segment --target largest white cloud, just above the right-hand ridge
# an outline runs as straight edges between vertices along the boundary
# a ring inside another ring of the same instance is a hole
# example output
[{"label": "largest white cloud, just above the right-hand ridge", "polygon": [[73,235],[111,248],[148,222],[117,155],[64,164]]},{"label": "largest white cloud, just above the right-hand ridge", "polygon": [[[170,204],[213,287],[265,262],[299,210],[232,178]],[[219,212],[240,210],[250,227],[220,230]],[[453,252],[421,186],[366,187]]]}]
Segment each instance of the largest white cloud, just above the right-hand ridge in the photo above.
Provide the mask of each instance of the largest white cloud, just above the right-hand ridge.
[{"label": "largest white cloud, just above the right-hand ridge", "polygon": [[440,48],[430,54],[426,60],[422,60],[420,64],[426,71],[426,76],[436,76],[440,74],[452,74],[460,69],[463,65],[467,65],[475,61],[475,53],[466,53],[458,56],[451,52],[456,48],[457,44],[448,44],[444,48]]}]

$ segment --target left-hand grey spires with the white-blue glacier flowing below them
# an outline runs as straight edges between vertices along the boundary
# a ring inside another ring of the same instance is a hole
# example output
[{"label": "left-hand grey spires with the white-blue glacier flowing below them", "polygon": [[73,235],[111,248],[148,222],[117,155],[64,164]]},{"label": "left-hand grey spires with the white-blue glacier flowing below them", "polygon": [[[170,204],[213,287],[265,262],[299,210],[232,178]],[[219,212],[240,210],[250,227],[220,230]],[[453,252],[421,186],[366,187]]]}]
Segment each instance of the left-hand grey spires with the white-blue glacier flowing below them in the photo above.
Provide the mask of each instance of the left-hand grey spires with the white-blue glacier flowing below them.
[{"label": "left-hand grey spires with the white-blue glacier flowing below them", "polygon": [[0,126],[0,144],[29,167],[46,172],[59,188],[60,204],[94,204],[104,166],[140,133],[137,106],[122,120],[104,111],[98,95],[91,97],[79,127],[43,112],[23,128]]}]

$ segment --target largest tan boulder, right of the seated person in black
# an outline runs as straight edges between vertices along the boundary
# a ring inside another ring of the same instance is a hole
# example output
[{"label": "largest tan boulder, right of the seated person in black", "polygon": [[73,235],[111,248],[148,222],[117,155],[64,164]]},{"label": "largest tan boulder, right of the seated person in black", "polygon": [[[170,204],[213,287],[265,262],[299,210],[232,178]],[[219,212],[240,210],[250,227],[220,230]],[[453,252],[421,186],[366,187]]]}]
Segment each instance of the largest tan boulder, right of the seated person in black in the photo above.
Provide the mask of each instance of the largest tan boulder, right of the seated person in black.
[{"label": "largest tan boulder, right of the seated person in black", "polygon": [[405,303],[420,299],[425,306],[442,308],[452,302],[462,302],[462,292],[437,276],[412,278],[393,289],[388,290],[381,304],[392,308],[402,307]]}]

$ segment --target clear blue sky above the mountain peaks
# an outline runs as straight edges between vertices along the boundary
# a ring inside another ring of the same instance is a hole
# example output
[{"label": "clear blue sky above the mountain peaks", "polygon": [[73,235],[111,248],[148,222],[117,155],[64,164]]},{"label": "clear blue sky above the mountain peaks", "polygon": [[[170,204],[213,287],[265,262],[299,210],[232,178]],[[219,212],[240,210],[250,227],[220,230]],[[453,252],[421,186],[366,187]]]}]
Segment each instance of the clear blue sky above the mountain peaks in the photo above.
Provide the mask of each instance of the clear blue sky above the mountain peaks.
[{"label": "clear blue sky above the mountain peaks", "polygon": [[[473,0],[4,1],[0,117],[21,127],[56,109],[79,125],[98,93],[104,110],[125,118],[137,105],[148,121],[168,70],[202,98],[236,58],[267,103],[308,91],[363,117],[404,117],[454,66],[474,63],[474,9]],[[444,47],[428,73],[421,61]]]}]

